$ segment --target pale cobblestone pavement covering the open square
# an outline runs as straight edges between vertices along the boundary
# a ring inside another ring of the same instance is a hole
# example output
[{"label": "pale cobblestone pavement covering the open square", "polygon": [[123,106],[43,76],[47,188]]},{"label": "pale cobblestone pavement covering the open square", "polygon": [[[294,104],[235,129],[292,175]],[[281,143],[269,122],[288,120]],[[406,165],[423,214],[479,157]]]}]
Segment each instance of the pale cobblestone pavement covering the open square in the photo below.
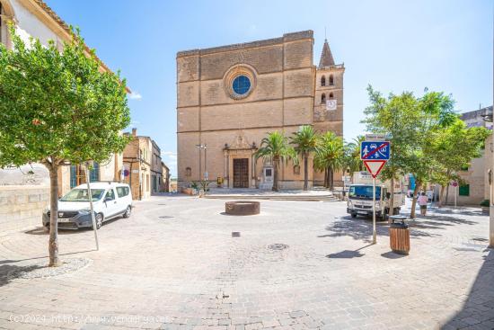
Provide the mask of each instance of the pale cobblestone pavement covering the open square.
[{"label": "pale cobblestone pavement covering the open square", "polygon": [[[350,219],[343,202],[261,201],[234,217],[225,201],[153,197],[130,219],[61,232],[62,259],[90,262],[49,278],[41,228],[0,237],[0,328],[492,329],[488,217],[443,210],[411,223],[408,256],[388,229]],[[240,232],[233,237],[232,232]]]}]

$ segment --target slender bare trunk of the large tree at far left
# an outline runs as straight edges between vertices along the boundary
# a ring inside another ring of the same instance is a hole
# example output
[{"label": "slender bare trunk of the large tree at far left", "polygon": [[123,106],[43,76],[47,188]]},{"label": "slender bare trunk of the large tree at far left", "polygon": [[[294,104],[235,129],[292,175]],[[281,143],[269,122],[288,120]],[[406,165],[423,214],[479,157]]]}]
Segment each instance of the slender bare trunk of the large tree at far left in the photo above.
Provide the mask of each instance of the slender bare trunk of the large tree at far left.
[{"label": "slender bare trunk of the large tree at far left", "polygon": [[58,166],[49,165],[49,267],[60,265],[58,259]]}]

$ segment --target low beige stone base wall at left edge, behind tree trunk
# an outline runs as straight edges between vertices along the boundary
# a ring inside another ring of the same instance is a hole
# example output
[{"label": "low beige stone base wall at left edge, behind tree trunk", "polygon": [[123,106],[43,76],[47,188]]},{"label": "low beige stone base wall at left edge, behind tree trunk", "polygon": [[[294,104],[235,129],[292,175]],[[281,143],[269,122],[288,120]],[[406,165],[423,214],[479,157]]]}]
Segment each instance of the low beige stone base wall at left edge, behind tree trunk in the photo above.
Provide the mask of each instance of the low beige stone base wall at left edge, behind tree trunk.
[{"label": "low beige stone base wall at left edge, behind tree trunk", "polygon": [[42,211],[49,206],[49,187],[0,186],[0,236],[40,226]]}]

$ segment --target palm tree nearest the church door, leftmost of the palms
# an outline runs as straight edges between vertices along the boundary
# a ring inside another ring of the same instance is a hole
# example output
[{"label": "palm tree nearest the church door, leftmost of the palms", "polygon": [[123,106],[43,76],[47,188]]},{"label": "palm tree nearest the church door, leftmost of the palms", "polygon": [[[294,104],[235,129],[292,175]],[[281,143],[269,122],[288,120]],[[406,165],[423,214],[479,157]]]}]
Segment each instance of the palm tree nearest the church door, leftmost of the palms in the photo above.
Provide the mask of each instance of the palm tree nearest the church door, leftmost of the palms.
[{"label": "palm tree nearest the church door, leftmost of the palms", "polygon": [[254,156],[256,157],[256,160],[263,157],[273,164],[273,192],[278,192],[279,162],[282,161],[287,163],[288,160],[291,159],[294,163],[298,164],[295,149],[288,145],[287,137],[285,137],[283,132],[278,132],[278,130],[268,133],[268,137],[263,138],[260,141],[260,147]]}]

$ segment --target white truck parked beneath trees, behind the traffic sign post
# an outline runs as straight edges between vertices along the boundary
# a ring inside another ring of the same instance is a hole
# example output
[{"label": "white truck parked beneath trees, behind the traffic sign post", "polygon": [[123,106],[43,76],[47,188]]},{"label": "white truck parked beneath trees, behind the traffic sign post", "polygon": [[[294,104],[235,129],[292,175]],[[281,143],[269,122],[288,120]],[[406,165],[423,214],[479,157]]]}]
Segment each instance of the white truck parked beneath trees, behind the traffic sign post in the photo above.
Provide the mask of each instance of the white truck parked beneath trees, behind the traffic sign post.
[{"label": "white truck parked beneath trees, behind the traffic sign post", "polygon": [[[372,175],[367,172],[353,174],[352,183],[348,187],[347,213],[352,218],[357,216],[372,217],[373,201]],[[375,217],[385,219],[390,214],[391,205],[391,181],[381,182],[375,180]],[[405,204],[404,180],[394,180],[394,214],[400,212]]]}]

